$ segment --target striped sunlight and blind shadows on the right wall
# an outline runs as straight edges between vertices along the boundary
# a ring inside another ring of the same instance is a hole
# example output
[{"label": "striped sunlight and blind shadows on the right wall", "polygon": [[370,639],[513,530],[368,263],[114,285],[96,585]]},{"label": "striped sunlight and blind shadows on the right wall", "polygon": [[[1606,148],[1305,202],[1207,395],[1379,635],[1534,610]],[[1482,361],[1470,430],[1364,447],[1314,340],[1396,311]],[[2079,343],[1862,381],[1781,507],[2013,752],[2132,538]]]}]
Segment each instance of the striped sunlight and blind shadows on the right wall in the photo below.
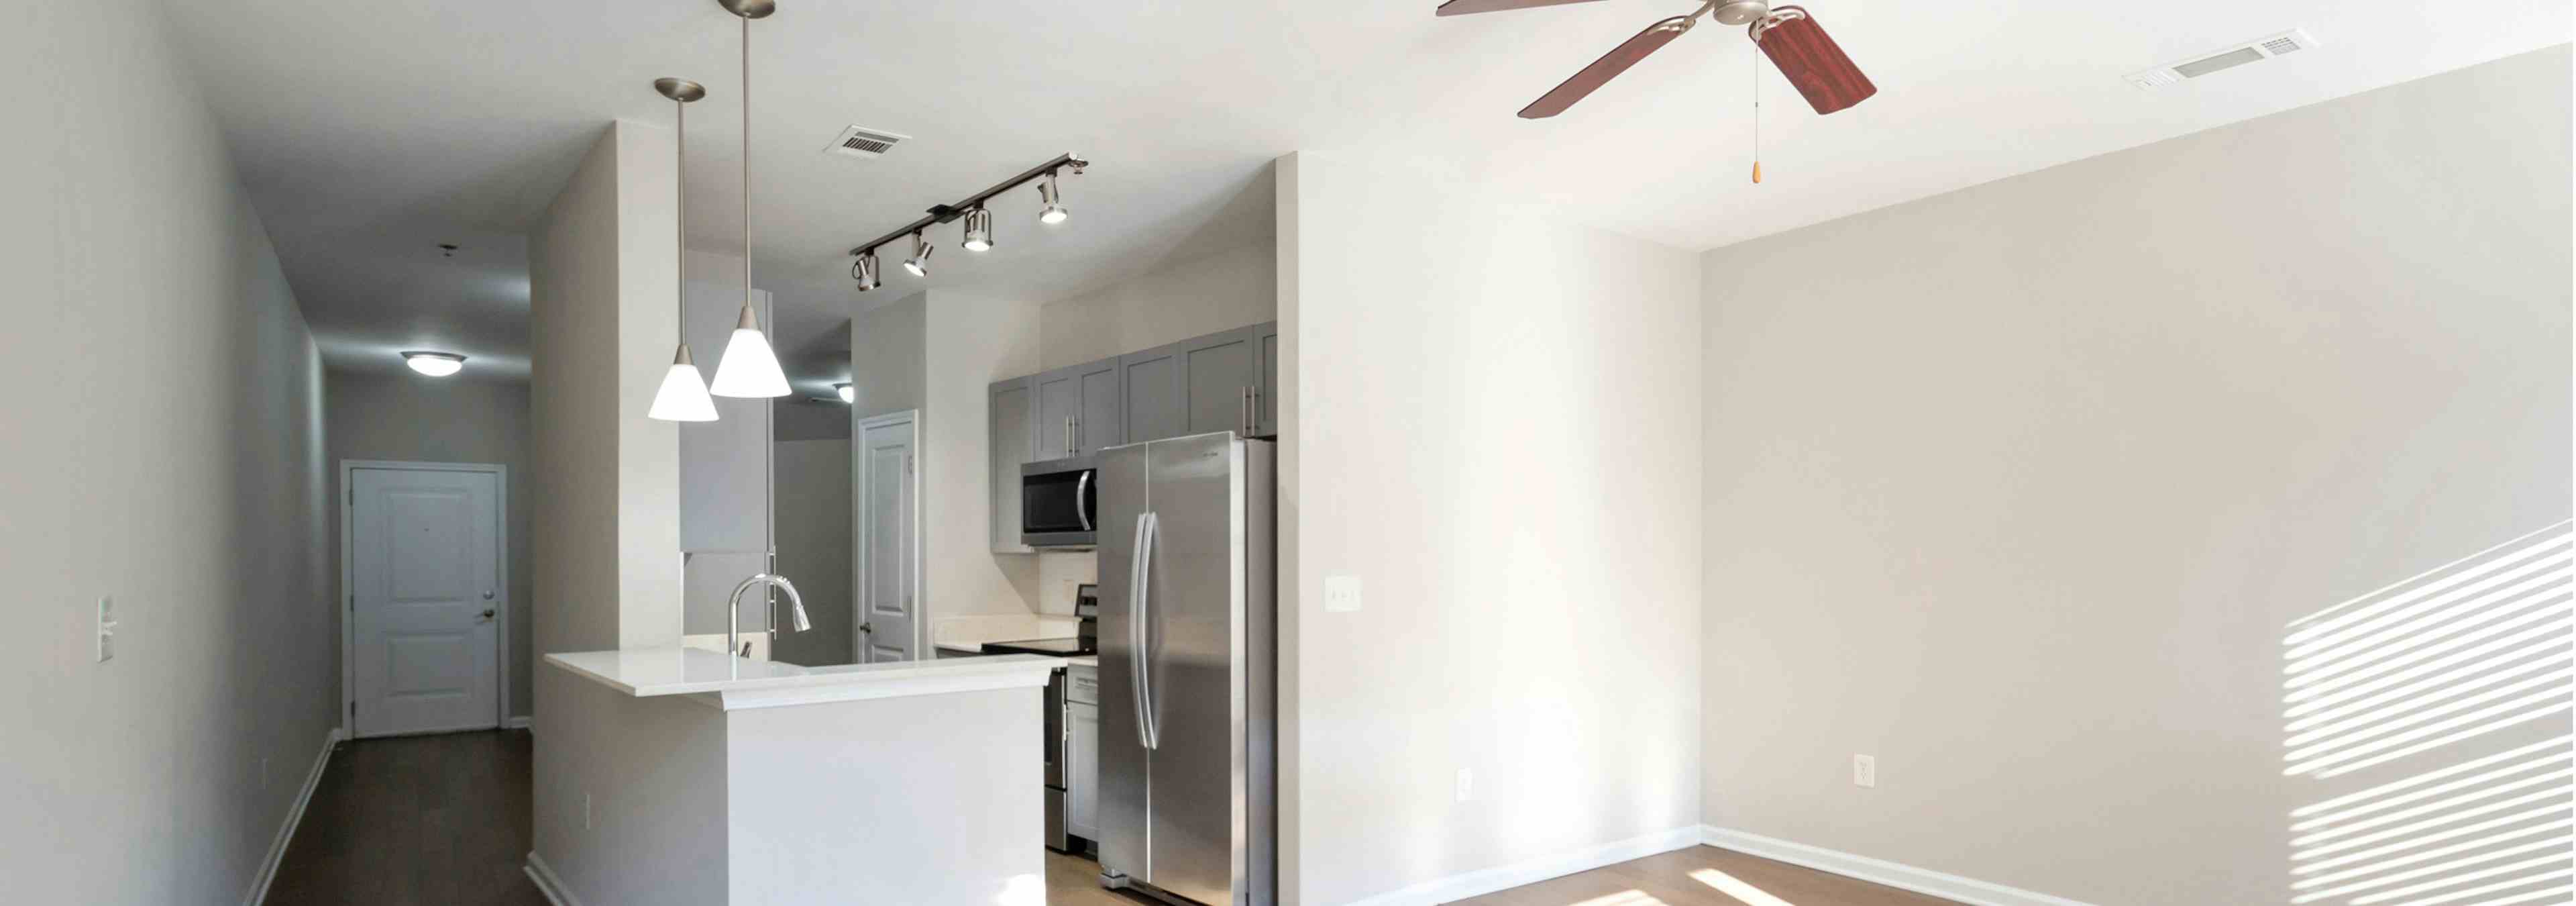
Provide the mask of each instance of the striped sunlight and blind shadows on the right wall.
[{"label": "striped sunlight and blind shadows on the right wall", "polygon": [[2290,623],[2290,903],[2576,898],[2568,525]]}]

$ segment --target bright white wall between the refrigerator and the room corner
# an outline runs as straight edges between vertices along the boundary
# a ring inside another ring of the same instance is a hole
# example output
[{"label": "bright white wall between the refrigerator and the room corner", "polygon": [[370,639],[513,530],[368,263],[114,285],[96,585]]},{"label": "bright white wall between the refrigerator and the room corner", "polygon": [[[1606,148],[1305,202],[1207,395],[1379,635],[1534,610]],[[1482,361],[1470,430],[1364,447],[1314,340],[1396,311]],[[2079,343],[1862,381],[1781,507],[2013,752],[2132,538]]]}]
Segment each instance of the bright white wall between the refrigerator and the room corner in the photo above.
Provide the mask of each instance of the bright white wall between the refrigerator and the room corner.
[{"label": "bright white wall between the refrigerator and the room corner", "polygon": [[1698,826],[1695,255],[1337,157],[1278,178],[1283,901]]}]

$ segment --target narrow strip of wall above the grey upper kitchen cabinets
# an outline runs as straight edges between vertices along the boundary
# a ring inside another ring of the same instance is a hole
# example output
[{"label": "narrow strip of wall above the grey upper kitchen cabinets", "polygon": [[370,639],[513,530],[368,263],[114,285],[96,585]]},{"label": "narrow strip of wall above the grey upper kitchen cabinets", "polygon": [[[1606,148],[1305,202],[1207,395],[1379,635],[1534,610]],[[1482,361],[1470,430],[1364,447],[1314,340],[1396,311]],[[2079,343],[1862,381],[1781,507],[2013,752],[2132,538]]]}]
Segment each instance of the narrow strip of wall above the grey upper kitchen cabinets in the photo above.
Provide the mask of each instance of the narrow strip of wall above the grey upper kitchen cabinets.
[{"label": "narrow strip of wall above the grey upper kitchen cabinets", "polygon": [[1041,371],[1270,322],[1278,317],[1278,239],[1167,263],[1038,311]]}]

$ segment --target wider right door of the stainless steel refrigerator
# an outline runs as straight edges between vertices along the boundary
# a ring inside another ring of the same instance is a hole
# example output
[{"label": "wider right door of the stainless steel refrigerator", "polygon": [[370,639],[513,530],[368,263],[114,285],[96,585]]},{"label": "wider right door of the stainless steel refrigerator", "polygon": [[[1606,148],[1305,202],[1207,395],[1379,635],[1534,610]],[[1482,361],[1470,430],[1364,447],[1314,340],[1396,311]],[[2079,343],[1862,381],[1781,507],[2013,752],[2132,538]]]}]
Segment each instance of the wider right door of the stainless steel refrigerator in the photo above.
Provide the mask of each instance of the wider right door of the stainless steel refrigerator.
[{"label": "wider right door of the stainless steel refrigerator", "polygon": [[[1249,350],[1249,345],[1244,345]],[[1234,898],[1236,752],[1242,713],[1244,535],[1231,435],[1164,440],[1151,450],[1154,556],[1146,649],[1154,759],[1149,824],[1154,885],[1203,901]]]}]

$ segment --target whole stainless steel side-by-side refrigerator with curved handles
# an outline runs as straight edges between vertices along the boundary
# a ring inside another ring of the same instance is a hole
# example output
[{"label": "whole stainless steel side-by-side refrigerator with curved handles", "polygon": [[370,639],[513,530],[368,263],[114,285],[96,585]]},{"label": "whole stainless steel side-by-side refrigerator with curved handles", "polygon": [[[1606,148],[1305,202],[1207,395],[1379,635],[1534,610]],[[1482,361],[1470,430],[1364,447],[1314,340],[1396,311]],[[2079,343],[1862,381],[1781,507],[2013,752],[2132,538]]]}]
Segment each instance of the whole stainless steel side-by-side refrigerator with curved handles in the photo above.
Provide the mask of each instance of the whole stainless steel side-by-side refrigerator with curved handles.
[{"label": "whole stainless steel side-by-side refrigerator with curved handles", "polygon": [[1100,880],[1270,906],[1278,891],[1273,443],[1100,453]]}]

